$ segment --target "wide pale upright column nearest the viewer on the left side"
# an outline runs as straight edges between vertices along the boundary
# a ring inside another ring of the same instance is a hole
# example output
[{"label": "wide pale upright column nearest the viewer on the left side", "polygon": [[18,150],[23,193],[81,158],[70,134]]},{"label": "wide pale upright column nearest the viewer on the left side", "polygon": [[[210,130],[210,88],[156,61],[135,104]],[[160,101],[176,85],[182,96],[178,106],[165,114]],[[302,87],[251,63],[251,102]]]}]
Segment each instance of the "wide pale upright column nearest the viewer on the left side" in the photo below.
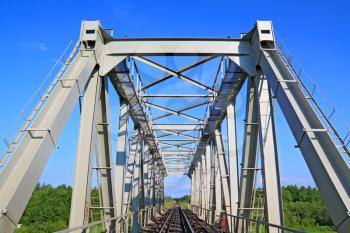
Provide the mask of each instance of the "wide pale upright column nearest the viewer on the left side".
[{"label": "wide pale upright column nearest the viewer on the left side", "polygon": [[92,157],[96,146],[96,118],[100,84],[100,77],[96,71],[88,83],[80,116],[77,159],[69,219],[70,228],[89,222]]}]

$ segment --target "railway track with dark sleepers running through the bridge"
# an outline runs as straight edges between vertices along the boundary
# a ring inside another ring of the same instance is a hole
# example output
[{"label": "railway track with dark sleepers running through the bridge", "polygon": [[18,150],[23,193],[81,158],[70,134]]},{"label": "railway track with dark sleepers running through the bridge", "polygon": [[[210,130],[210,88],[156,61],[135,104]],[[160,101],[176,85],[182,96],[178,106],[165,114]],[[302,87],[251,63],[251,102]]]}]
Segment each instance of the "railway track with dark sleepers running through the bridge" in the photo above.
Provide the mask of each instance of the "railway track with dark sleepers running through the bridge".
[{"label": "railway track with dark sleepers running through the bridge", "polygon": [[175,206],[168,210],[156,224],[150,225],[147,230],[142,232],[160,232],[160,233],[194,233],[217,231],[203,220],[199,219],[192,211]]}]

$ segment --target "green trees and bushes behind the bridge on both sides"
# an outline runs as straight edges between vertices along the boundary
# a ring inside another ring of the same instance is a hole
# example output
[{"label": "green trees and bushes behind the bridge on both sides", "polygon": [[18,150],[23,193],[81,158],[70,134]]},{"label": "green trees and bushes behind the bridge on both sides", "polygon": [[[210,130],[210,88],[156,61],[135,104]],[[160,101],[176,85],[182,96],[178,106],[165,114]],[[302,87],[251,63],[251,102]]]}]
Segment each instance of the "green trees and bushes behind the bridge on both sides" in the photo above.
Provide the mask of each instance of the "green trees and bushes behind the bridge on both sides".
[{"label": "green trees and bushes behind the bridge on both sides", "polygon": [[[261,190],[262,191],[262,190]],[[16,233],[47,233],[68,227],[72,188],[66,185],[52,187],[37,185],[21,218],[22,227]],[[99,193],[93,189],[92,206],[99,205]],[[332,221],[317,189],[286,186],[282,188],[285,225],[307,232],[331,233]],[[175,204],[187,208],[190,196],[165,197],[166,208]],[[258,199],[257,199],[258,200]],[[257,201],[256,200],[256,201]],[[93,221],[100,219],[100,211],[93,211]],[[92,221],[92,219],[90,219]]]}]

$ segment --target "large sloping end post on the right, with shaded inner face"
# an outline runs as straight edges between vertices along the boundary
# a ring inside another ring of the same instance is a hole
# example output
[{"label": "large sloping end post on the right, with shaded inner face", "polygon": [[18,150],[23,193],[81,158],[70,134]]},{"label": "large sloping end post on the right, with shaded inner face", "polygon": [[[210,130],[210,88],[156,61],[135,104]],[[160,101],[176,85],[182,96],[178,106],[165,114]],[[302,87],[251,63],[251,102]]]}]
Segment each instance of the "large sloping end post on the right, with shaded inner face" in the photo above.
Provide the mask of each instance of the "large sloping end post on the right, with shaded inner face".
[{"label": "large sloping end post on the right, with shaded inner face", "polygon": [[[261,56],[260,56],[261,55]],[[350,169],[277,51],[260,51],[260,66],[304,156],[338,232],[350,229]],[[311,93],[310,93],[311,94]]]}]

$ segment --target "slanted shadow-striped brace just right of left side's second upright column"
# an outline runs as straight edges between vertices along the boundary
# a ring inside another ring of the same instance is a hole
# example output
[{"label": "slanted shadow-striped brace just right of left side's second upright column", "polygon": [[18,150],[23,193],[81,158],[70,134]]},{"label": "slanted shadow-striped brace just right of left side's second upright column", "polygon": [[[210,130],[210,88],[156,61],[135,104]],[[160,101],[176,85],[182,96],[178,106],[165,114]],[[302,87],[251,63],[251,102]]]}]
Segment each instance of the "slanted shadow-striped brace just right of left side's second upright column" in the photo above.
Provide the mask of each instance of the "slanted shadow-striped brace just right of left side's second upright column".
[{"label": "slanted shadow-striped brace just right of left side's second upright column", "polygon": [[139,129],[134,130],[131,146],[130,146],[130,153],[127,163],[127,168],[125,171],[125,178],[124,178],[124,193],[123,193],[123,215],[125,216],[123,222],[122,222],[122,229],[123,232],[128,232],[128,212],[130,207],[130,199],[131,199],[131,192],[132,192],[132,185],[133,185],[133,176],[134,176],[134,167],[135,167],[135,159],[139,150],[140,145],[140,132]]}]

